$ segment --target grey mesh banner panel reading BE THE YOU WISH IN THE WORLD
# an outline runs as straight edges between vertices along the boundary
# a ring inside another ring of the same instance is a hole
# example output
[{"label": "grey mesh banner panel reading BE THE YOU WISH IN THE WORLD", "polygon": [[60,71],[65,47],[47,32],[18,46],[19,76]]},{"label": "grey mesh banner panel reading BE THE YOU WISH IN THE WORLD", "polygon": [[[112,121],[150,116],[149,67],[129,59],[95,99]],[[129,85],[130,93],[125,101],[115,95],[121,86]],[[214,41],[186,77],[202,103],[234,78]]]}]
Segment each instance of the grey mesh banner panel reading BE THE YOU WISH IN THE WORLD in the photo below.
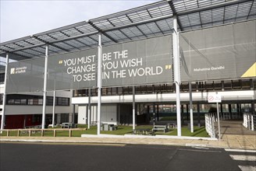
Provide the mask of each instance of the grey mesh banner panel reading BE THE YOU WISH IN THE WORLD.
[{"label": "grey mesh banner panel reading BE THE YOU WISH IN THE WORLD", "polygon": [[171,36],[103,47],[102,86],[172,82]]}]

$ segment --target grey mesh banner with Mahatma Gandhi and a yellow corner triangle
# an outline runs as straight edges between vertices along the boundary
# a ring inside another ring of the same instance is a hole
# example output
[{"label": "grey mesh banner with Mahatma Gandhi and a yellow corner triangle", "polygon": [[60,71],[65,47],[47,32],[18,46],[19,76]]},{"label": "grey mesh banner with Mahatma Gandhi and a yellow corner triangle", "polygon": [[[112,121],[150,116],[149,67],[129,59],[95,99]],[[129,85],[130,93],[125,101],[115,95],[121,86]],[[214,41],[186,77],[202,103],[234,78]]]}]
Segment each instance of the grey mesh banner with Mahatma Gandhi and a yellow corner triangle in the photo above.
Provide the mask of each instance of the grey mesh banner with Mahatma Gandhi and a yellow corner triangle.
[{"label": "grey mesh banner with Mahatma Gandhi and a yellow corner triangle", "polygon": [[180,33],[181,80],[255,77],[255,30],[250,21]]}]

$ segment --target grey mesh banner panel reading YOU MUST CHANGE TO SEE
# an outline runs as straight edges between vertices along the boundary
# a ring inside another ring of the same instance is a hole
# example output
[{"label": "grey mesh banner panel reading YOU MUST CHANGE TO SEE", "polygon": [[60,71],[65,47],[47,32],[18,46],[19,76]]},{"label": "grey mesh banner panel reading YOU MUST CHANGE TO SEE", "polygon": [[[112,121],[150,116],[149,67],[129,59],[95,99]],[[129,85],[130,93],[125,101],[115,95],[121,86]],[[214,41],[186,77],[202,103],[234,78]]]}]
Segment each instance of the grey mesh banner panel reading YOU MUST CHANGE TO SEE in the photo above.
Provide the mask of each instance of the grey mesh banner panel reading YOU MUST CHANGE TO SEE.
[{"label": "grey mesh banner panel reading YOU MUST CHANGE TO SEE", "polygon": [[48,57],[47,90],[96,87],[97,48]]}]

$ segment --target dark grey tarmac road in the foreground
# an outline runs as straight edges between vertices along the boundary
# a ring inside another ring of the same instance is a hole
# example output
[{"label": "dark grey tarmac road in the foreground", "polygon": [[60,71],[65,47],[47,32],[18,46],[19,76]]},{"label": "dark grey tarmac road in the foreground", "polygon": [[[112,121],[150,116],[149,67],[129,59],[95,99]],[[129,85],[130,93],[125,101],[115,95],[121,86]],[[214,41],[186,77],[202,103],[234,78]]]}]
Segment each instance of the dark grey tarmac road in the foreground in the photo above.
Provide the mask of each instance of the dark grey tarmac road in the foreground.
[{"label": "dark grey tarmac road in the foreground", "polygon": [[253,161],[232,159],[230,153],[223,148],[170,145],[1,142],[0,170],[234,171],[239,165],[255,166]]}]

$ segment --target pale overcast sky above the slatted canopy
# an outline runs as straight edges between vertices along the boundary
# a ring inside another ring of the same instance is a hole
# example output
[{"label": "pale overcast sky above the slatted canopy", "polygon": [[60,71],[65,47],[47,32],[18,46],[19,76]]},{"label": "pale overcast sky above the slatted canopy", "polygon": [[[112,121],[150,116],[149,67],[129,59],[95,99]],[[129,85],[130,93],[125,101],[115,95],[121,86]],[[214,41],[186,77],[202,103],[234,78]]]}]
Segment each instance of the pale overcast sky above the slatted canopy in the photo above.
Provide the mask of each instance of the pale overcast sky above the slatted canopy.
[{"label": "pale overcast sky above the slatted canopy", "polygon": [[0,42],[88,21],[157,0],[0,0]]}]

